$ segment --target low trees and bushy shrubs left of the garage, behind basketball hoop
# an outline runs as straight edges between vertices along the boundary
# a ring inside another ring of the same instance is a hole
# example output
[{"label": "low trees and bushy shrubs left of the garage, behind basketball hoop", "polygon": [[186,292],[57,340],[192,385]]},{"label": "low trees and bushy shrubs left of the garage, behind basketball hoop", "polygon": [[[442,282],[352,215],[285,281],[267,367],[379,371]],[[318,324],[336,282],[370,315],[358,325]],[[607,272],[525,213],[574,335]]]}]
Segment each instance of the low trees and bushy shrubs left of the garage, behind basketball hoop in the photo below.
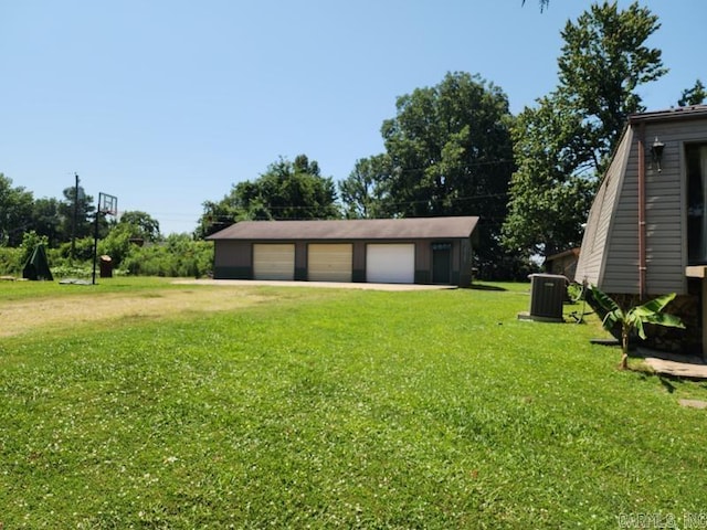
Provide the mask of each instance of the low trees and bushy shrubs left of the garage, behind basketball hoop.
[{"label": "low trees and bushy shrubs left of the garage, behind basketball hoop", "polygon": [[96,216],[93,197],[77,182],[62,200],[34,199],[0,173],[0,275],[20,275],[39,244],[60,276],[91,276],[94,251],[110,257],[116,274],[198,277],[211,269],[213,258],[210,243],[191,234],[163,236],[146,212],[126,211],[119,220]]}]

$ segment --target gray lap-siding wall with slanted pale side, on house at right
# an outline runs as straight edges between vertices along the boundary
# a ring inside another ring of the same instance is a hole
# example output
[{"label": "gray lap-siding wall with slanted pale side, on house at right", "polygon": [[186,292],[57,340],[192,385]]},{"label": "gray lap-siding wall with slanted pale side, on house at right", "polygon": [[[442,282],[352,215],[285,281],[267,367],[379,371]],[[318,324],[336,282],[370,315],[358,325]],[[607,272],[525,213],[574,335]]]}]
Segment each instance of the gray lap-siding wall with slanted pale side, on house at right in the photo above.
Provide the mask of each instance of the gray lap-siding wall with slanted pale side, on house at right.
[{"label": "gray lap-siding wall with slanted pale side, on house at right", "polygon": [[[664,144],[661,167],[651,146]],[[590,211],[574,279],[608,293],[687,294],[685,146],[707,142],[707,107],[632,116]],[[643,160],[640,152],[643,148]],[[640,224],[643,177],[644,224]],[[644,230],[644,256],[640,233]]]}]

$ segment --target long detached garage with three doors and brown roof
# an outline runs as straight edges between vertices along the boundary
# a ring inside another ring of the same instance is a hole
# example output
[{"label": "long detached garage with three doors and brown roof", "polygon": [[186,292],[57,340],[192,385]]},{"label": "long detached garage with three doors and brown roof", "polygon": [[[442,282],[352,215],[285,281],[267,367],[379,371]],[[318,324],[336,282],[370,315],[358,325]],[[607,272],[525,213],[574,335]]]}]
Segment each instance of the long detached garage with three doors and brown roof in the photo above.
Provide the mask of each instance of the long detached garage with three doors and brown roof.
[{"label": "long detached garage with three doors and brown roof", "polygon": [[443,284],[472,282],[478,218],[243,221],[214,242],[217,279]]}]

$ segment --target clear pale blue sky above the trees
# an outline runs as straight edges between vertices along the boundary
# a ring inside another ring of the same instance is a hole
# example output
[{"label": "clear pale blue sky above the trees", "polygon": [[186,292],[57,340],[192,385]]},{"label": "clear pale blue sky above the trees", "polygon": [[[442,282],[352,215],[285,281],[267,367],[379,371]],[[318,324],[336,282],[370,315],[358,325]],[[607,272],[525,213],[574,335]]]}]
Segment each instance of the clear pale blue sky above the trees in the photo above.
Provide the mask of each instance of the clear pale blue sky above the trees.
[{"label": "clear pale blue sky above the trees", "polygon": [[[395,98],[479,74],[514,113],[557,85],[560,30],[591,2],[551,0],[6,0],[0,172],[35,198],[117,195],[163,233],[202,203],[305,153],[345,179],[383,151]],[[641,1],[669,73],[650,109],[707,83],[705,0]],[[620,1],[621,7],[630,4]]]}]

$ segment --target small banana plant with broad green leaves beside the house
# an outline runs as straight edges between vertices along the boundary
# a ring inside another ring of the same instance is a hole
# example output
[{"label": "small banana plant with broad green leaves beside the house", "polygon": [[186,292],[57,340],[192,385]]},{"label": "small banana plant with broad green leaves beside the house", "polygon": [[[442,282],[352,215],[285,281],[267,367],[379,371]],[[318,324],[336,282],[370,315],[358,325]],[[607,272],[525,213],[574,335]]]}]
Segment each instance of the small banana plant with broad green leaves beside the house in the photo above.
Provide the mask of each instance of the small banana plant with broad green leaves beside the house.
[{"label": "small banana plant with broad green leaves beside the house", "polygon": [[645,304],[624,310],[613,298],[598,287],[592,285],[590,290],[597,303],[606,311],[602,320],[604,329],[611,331],[616,325],[621,326],[621,362],[619,363],[619,369],[621,370],[629,368],[629,337],[634,330],[639,333],[639,337],[645,340],[644,325],[646,324],[685,328],[679,317],[663,312],[663,309],[675,298],[675,293],[658,296]]}]

